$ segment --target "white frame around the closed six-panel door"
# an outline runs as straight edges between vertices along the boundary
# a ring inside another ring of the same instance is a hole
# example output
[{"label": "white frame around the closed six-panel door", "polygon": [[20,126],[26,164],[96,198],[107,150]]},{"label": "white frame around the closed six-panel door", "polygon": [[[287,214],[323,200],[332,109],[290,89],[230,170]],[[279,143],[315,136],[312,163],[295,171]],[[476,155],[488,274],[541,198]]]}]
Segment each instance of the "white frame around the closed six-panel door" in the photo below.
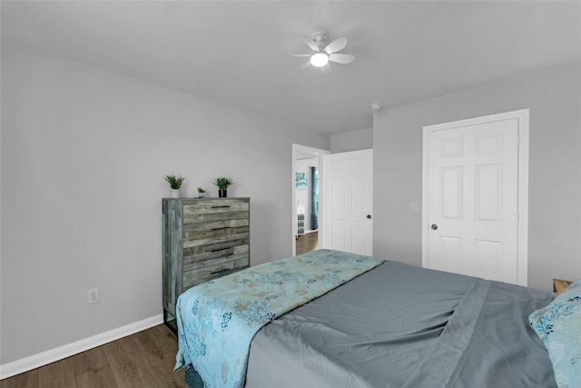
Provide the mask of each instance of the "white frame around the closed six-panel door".
[{"label": "white frame around the closed six-panel door", "polygon": [[517,150],[517,174],[518,174],[518,214],[517,214],[517,284],[528,284],[528,115],[529,110],[500,114],[488,114],[485,116],[458,120],[443,124],[433,124],[423,127],[422,132],[422,228],[421,228],[421,265],[428,266],[428,139],[429,133],[444,129],[452,129],[460,126],[487,124],[497,121],[518,120],[518,150]]}]

